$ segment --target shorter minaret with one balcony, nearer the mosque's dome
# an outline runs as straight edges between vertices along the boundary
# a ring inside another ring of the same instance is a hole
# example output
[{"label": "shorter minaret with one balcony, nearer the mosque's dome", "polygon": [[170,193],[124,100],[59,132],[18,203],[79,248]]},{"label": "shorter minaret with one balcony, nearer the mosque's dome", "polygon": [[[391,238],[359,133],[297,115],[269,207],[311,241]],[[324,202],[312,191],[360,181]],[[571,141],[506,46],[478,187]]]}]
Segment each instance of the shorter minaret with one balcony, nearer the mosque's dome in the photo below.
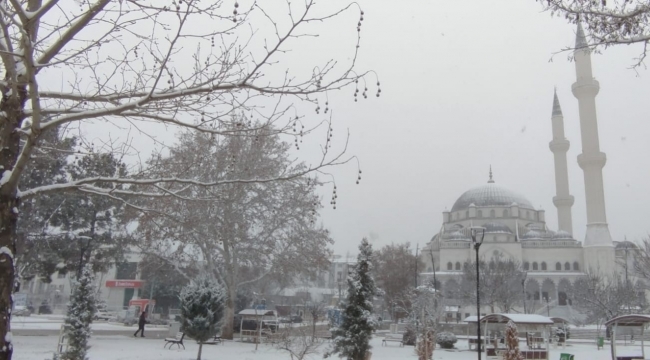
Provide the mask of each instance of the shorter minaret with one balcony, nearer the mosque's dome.
[{"label": "shorter minaret with one balcony, nearer the mosque's dome", "polygon": [[548,144],[555,158],[555,193],[553,204],[557,208],[558,230],[573,234],[571,206],[573,196],[569,194],[569,172],[567,170],[566,153],[569,151],[569,140],[564,137],[564,117],[557,91],[553,94],[553,113],[551,115],[553,140]]}]

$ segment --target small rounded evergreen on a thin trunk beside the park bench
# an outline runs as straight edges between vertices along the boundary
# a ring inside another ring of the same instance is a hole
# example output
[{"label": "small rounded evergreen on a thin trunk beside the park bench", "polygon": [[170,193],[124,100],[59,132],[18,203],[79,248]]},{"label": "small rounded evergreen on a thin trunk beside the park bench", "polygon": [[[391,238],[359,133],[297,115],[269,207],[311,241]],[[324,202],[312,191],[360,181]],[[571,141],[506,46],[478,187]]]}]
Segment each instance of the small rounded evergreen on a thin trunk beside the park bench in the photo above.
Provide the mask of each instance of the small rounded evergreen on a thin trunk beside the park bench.
[{"label": "small rounded evergreen on a thin trunk beside the park bench", "polygon": [[201,360],[203,343],[217,334],[224,295],[223,287],[207,276],[199,276],[181,291],[181,328],[199,343],[197,360]]}]

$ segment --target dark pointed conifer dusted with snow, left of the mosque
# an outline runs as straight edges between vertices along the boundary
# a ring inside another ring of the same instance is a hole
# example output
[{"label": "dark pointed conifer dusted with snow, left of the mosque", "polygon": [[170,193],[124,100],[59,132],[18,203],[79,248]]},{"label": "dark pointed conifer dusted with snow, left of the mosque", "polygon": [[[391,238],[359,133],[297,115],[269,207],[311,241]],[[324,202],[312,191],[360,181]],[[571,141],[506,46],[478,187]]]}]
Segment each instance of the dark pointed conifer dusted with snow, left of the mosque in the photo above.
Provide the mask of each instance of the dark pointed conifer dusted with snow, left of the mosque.
[{"label": "dark pointed conifer dusted with snow, left of the mosque", "polygon": [[325,354],[338,354],[348,360],[366,360],[370,356],[369,344],[375,321],[372,300],[375,281],[371,276],[372,246],[364,238],[359,245],[359,255],[354,271],[348,276],[348,297],[343,312],[343,323],[333,331],[334,348]]}]

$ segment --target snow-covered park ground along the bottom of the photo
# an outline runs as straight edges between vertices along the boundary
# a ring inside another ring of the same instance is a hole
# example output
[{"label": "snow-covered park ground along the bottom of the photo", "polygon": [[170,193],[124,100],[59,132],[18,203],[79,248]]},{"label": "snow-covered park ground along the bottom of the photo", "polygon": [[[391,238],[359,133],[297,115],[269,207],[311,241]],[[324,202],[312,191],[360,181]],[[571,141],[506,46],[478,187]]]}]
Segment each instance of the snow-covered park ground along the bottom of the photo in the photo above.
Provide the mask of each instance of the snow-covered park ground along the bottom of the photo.
[{"label": "snow-covered park ground along the bottom of the photo", "polygon": [[[15,360],[45,360],[52,358],[56,348],[56,336],[16,336],[14,337]],[[187,341],[186,350],[163,349],[164,342],[156,338],[133,338],[126,336],[94,336],[91,341],[90,360],[191,360],[196,359],[198,345]],[[399,347],[391,344],[381,346],[381,338],[372,340],[372,360],[417,359],[413,347]],[[467,350],[466,342],[459,340],[456,344],[458,350],[436,349],[434,359],[461,360],[475,359],[476,353]],[[325,343],[329,346],[329,343]],[[325,349],[325,348],[323,348]],[[550,359],[557,360],[560,353],[566,352],[575,355],[576,360],[605,360],[610,359],[609,348],[596,350],[594,344],[569,344],[566,349],[551,348]],[[646,347],[650,354],[650,348]],[[640,354],[641,348],[637,346],[619,347],[619,355]],[[321,359],[315,355],[312,359]],[[485,357],[484,357],[485,358]],[[255,344],[226,341],[223,345],[204,345],[202,359],[205,360],[289,360],[289,354],[274,349],[271,345],[262,344],[255,351]]]}]

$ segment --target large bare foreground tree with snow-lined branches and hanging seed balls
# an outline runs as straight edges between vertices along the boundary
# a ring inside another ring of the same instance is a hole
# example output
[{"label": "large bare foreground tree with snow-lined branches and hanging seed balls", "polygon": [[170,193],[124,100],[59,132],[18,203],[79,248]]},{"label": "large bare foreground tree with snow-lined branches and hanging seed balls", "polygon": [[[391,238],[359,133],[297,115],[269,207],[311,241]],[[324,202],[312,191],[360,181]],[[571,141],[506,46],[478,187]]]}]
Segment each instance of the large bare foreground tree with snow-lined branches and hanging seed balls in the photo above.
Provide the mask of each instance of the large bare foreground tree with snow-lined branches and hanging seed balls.
[{"label": "large bare foreground tree with snow-lined branches and hanging seed balls", "polygon": [[[296,102],[313,104],[318,115],[330,110],[327,91],[356,86],[355,98],[368,96],[366,73],[355,71],[363,22],[360,10],[353,20],[357,29],[350,27],[356,31],[349,43],[349,60],[291,60],[291,50],[306,40],[317,41],[327,29],[323,24],[358,9],[356,3],[331,12],[317,9],[311,0],[226,5],[199,0],[0,2],[0,59],[5,71],[0,82],[0,360],[13,353],[6,334],[22,201],[81,191],[136,206],[131,199],[180,196],[178,189],[167,189],[171,184],[196,188],[288,180],[345,162],[342,151],[330,150],[327,121],[321,159],[298,173],[202,182],[185,176],[153,178],[146,168],[136,168],[125,177],[98,176],[18,190],[32,155],[39,149],[47,151],[42,134],[62,125],[130,127],[156,142],[156,131],[174,127],[224,136],[246,134],[216,126],[233,113],[245,112],[260,123],[274,124],[278,133],[301,140],[322,121],[302,116]],[[378,96],[378,86],[372,89]],[[104,141],[111,143],[109,138]]]}]

